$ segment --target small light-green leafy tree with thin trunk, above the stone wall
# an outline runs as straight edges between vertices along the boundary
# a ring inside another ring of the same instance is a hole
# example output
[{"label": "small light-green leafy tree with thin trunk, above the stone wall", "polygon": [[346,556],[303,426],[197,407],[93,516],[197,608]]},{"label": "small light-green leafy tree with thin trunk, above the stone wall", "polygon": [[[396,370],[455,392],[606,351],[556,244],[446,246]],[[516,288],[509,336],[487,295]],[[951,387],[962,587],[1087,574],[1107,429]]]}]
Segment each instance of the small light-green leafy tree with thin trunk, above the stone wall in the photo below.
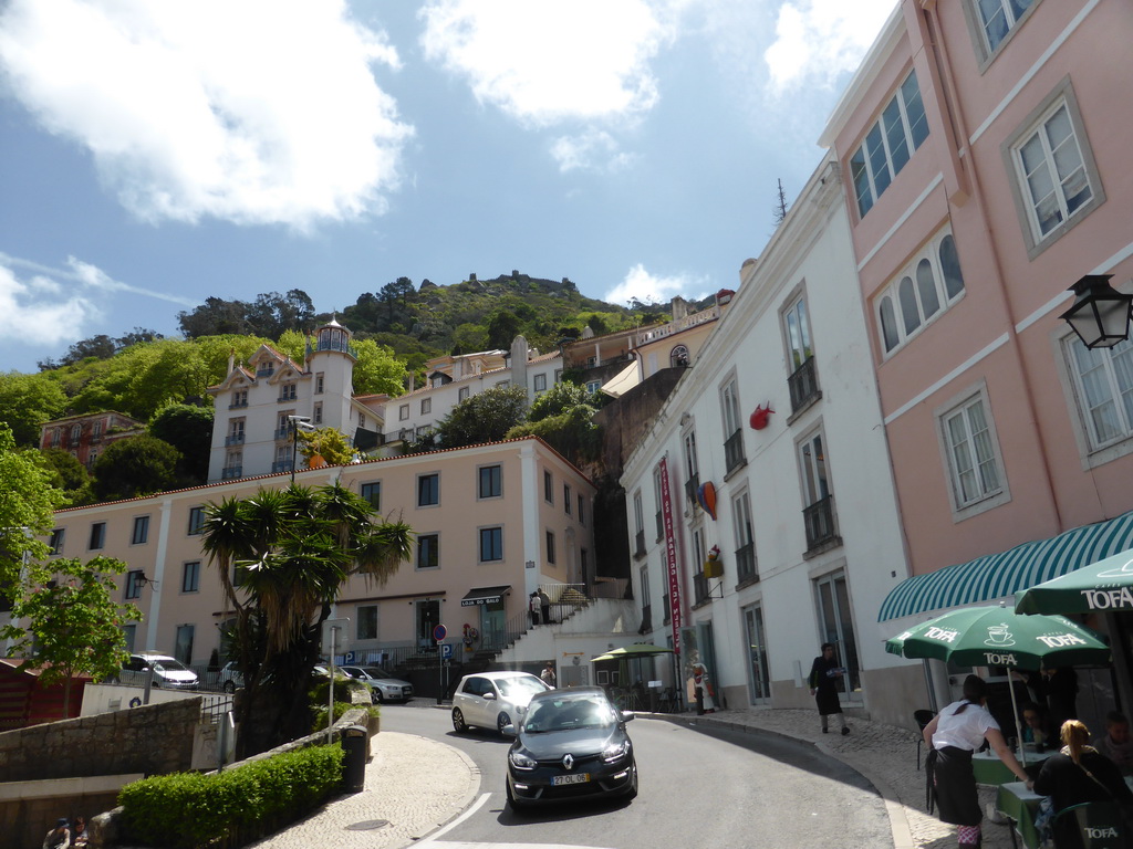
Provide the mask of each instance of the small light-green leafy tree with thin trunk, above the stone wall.
[{"label": "small light-green leafy tree with thin trunk, above the stone wall", "polygon": [[129,658],[121,626],[140,621],[142,614],[133,604],[111,600],[117,592],[113,576],[126,571],[121,560],[59,559],[49,568],[56,577],[16,600],[12,624],[0,636],[15,641],[11,657],[27,658],[22,666],[42,670],[40,681],[65,685],[63,715],[68,715],[71,678],[90,675],[100,681],[121,669]]}]

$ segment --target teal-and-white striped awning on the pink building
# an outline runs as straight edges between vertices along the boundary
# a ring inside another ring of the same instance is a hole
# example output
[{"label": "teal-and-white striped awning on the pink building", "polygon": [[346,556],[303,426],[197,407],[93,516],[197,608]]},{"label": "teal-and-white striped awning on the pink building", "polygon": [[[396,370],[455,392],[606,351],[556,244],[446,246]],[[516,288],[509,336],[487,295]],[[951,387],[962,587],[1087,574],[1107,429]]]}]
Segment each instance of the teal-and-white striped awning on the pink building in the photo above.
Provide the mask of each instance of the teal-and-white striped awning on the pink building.
[{"label": "teal-and-white striped awning on the pink building", "polygon": [[998,555],[908,577],[886,595],[877,620],[1003,599],[1130,549],[1133,512],[1048,540],[1024,542]]}]

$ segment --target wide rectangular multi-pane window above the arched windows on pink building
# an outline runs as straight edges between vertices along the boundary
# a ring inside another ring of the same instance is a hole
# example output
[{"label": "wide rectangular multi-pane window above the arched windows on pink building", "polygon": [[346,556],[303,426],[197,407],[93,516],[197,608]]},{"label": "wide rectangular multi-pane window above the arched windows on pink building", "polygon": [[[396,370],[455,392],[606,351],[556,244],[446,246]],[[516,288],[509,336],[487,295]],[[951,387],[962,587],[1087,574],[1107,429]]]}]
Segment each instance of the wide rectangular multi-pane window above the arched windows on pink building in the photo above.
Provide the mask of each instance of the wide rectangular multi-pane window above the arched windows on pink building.
[{"label": "wide rectangular multi-pane window above the arched windows on pink building", "polygon": [[858,198],[858,214],[866,216],[912,152],[928,138],[917,71],[910,71],[877,119],[861,147],[850,157],[850,178]]}]

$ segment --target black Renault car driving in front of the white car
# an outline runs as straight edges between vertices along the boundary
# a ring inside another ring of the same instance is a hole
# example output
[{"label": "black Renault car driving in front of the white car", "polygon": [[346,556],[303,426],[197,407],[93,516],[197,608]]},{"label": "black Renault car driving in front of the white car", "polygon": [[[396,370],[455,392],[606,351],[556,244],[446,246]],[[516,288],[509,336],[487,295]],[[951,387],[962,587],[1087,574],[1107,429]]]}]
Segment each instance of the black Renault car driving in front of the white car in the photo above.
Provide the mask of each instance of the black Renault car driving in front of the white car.
[{"label": "black Renault car driving in front of the white car", "polygon": [[637,762],[625,723],[600,687],[554,689],[534,696],[508,752],[508,803],[513,809],[579,798],[638,792]]}]

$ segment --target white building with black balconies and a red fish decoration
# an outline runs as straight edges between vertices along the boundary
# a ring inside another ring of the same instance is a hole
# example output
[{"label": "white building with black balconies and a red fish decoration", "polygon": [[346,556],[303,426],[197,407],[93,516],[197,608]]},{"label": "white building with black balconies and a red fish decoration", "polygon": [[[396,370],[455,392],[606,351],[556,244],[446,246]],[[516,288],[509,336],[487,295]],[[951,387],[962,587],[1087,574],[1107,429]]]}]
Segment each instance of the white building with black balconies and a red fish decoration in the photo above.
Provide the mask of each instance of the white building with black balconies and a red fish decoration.
[{"label": "white building with black balconies and a red fish decoration", "polygon": [[622,477],[641,633],[681,643],[682,679],[706,662],[730,706],[812,705],[824,642],[849,705],[891,664],[877,599],[906,567],[854,269],[825,161]]}]

